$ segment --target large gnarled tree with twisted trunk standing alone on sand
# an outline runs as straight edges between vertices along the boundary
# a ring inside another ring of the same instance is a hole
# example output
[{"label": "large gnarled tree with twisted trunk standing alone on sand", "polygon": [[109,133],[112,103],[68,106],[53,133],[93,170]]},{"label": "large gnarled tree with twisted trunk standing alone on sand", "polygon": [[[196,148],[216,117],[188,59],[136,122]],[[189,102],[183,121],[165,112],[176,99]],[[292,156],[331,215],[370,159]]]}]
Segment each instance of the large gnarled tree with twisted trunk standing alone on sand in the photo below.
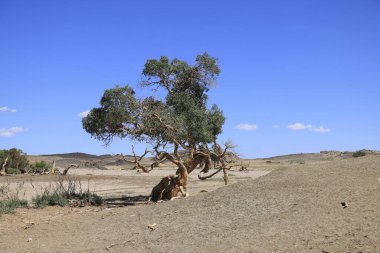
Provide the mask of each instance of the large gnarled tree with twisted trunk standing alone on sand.
[{"label": "large gnarled tree with twisted trunk standing alone on sand", "polygon": [[[156,158],[150,168],[140,163],[144,155],[140,159],[135,155],[136,166],[144,172],[165,160],[178,167],[176,175],[163,178],[153,188],[153,201],[171,199],[179,192],[185,196],[188,174],[197,167],[207,173],[216,164],[227,183],[227,156],[232,146],[226,144],[222,149],[216,142],[225,117],[217,105],[207,106],[207,92],[219,73],[217,59],[207,53],[198,55],[194,65],[165,56],[147,60],[141,85],[163,89],[164,98],[138,99],[130,86],[116,86],[106,90],[101,106],[83,118],[83,128],[106,144],[115,137],[151,144],[152,149],[144,153]],[[199,175],[200,179],[208,177]]]}]

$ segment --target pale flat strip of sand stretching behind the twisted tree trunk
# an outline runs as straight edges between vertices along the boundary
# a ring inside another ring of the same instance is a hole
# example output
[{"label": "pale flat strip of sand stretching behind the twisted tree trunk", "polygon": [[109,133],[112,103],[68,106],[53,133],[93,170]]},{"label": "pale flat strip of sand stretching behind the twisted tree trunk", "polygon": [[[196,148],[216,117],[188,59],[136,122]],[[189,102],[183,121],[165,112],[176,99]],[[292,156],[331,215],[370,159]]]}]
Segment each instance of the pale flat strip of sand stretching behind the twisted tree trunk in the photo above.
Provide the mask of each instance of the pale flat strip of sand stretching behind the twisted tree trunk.
[{"label": "pale flat strip of sand stretching behind the twisted tree trunk", "polygon": [[[254,179],[269,173],[270,170],[230,171],[229,177],[232,183],[246,179]],[[201,181],[197,175],[199,170],[190,174],[189,194],[194,196],[201,191],[213,191],[224,185],[223,173],[213,178]],[[150,195],[151,189],[162,177],[175,174],[175,168],[164,167],[141,173],[136,170],[99,170],[94,168],[80,168],[69,171],[65,177],[58,175],[16,175],[0,177],[0,186],[9,185],[12,193],[16,193],[20,199],[31,201],[33,197],[41,194],[45,189],[54,189],[58,182],[67,185],[68,181],[77,182],[83,191],[90,190],[104,198],[120,196]]]}]

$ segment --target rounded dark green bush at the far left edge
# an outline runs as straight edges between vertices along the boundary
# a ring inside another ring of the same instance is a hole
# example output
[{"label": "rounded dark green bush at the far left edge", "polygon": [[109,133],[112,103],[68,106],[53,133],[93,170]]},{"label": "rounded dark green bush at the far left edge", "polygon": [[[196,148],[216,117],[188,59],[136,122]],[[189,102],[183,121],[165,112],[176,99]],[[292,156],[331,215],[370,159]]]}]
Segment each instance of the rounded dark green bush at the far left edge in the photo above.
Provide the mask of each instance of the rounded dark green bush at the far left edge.
[{"label": "rounded dark green bush at the far left edge", "polygon": [[0,166],[3,165],[6,158],[8,158],[8,162],[5,166],[7,173],[20,174],[26,172],[29,162],[26,154],[21,149],[11,148],[9,150],[0,150]]}]

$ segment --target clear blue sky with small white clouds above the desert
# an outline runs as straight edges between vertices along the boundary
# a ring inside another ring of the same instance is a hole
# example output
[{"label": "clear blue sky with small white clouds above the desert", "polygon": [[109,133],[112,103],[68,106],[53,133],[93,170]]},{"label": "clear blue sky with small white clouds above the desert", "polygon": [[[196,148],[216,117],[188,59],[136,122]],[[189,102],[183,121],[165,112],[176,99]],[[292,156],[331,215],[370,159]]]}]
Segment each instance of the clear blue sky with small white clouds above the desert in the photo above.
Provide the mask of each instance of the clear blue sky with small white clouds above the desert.
[{"label": "clear blue sky with small white clouds above the desert", "polygon": [[203,52],[222,70],[220,140],[244,157],[380,149],[377,0],[0,0],[0,149],[130,153],[78,114],[115,84],[149,94],[147,59]]}]

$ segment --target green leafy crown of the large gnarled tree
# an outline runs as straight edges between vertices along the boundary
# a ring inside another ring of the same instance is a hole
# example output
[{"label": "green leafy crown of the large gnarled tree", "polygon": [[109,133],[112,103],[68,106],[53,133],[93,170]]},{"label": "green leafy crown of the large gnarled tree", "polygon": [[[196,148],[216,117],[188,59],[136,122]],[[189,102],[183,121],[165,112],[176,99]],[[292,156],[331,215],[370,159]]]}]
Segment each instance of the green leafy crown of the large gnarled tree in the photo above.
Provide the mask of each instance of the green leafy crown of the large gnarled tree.
[{"label": "green leafy crown of the large gnarled tree", "polygon": [[128,85],[116,86],[104,92],[101,107],[83,118],[83,128],[107,144],[114,137],[189,147],[213,143],[225,118],[217,105],[207,106],[207,92],[219,73],[217,60],[207,53],[198,55],[194,65],[165,56],[148,60],[141,85],[162,88],[165,97],[137,99]]}]

